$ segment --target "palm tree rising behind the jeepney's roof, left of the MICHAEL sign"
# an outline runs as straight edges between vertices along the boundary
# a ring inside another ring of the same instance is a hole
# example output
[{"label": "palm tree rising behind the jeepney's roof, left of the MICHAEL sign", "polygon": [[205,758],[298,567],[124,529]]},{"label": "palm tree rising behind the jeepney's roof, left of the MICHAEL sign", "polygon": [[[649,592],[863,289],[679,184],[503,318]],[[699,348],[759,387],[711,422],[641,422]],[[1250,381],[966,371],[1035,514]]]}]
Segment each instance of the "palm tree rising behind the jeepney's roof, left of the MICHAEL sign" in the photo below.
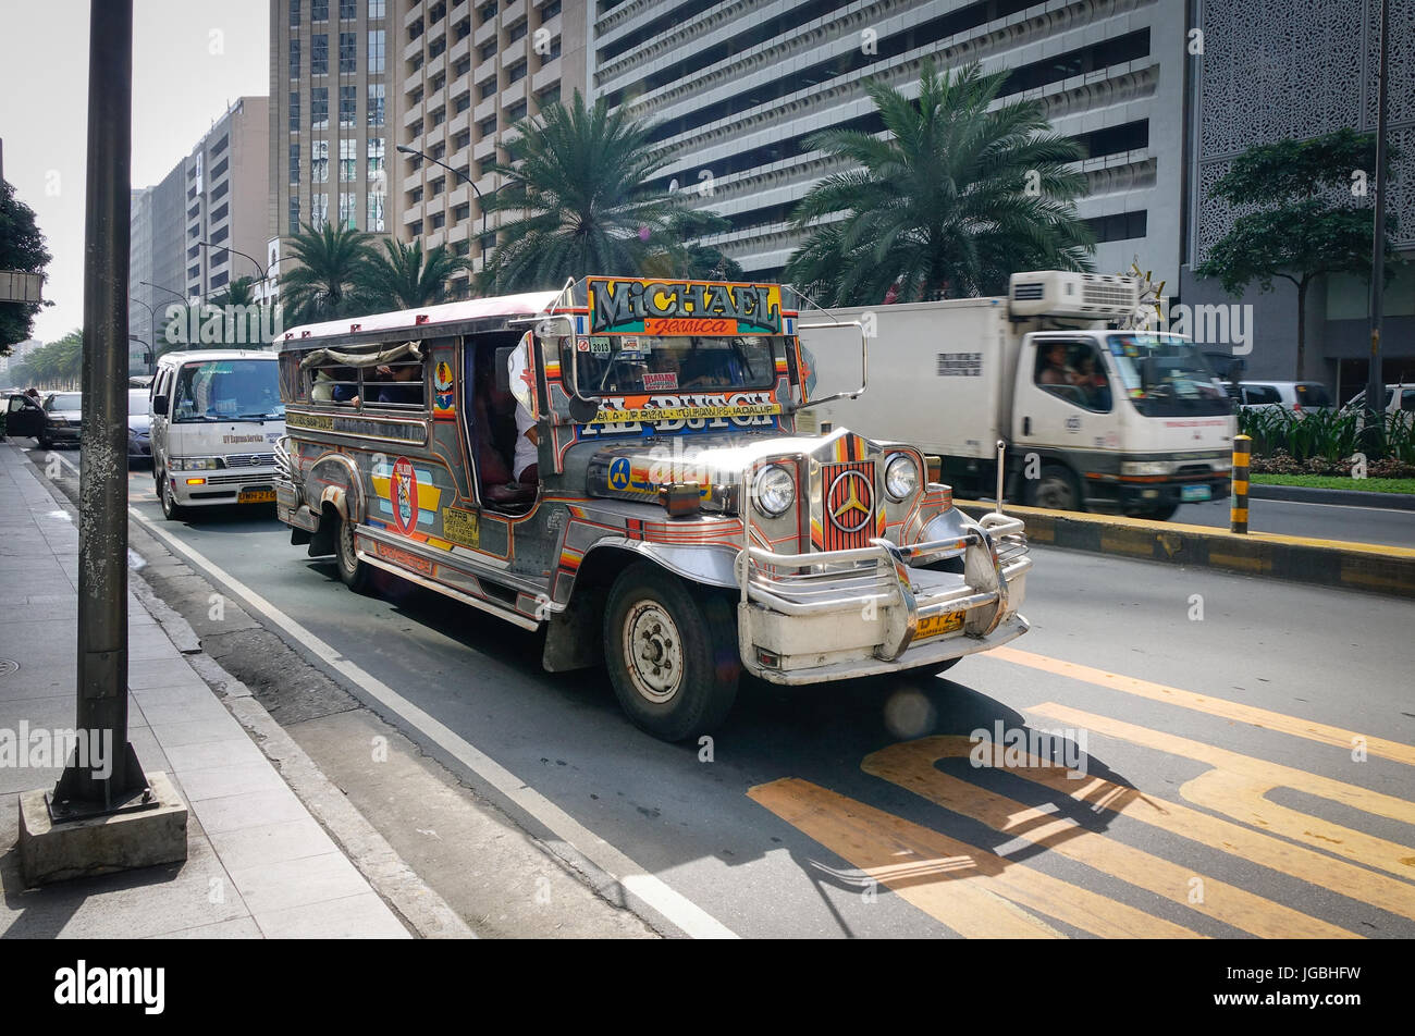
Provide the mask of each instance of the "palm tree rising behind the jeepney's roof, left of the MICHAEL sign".
[{"label": "palm tree rising behind the jeepney's roof, left of the MICHAEL sign", "polygon": [[505,144],[511,164],[492,171],[507,183],[487,211],[519,215],[498,231],[498,246],[480,277],[483,290],[528,292],[559,287],[586,273],[640,273],[682,202],[644,181],[668,159],[648,140],[649,126],[624,109],[593,108],[574,92],[566,108],[549,105],[516,123]]}]

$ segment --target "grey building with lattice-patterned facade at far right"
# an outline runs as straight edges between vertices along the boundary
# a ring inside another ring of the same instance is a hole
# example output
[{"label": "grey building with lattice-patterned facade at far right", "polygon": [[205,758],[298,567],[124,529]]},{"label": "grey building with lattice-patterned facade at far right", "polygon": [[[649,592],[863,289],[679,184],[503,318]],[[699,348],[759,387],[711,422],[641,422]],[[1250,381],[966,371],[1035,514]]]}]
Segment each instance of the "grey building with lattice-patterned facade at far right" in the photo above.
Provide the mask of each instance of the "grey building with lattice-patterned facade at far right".
[{"label": "grey building with lattice-patterned facade at far right", "polygon": [[[1199,13],[1204,54],[1190,96],[1190,246],[1182,296],[1186,304],[1251,306],[1248,375],[1292,379],[1298,376],[1296,287],[1278,279],[1271,293],[1251,284],[1234,300],[1217,282],[1193,276],[1234,221],[1228,205],[1208,192],[1252,144],[1310,139],[1341,127],[1375,132],[1380,3],[1312,0],[1300,21],[1293,21],[1285,0],[1203,0]],[[1409,4],[1391,3],[1388,142],[1399,157],[1385,208],[1399,219],[1395,248],[1405,259],[1415,258],[1415,21],[1409,14]],[[1337,197],[1351,201],[1347,190],[1336,188]],[[1371,202],[1367,194],[1360,204]],[[1382,379],[1409,382],[1415,381],[1415,266],[1394,272],[1385,287]],[[1333,275],[1313,282],[1303,375],[1348,399],[1365,386],[1370,347],[1370,279]]]}]

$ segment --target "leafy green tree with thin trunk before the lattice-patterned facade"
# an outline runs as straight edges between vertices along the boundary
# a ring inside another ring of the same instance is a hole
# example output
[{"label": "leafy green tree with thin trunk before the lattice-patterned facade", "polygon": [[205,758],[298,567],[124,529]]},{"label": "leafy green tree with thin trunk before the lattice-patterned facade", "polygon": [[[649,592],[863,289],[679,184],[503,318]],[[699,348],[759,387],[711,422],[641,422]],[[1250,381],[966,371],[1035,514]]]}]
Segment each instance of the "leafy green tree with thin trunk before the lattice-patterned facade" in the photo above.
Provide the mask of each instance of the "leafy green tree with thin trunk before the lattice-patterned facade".
[{"label": "leafy green tree with thin trunk before the lattice-patterned facade", "polygon": [[[1395,149],[1382,175],[1394,168]],[[1306,376],[1307,289],[1327,273],[1371,269],[1375,219],[1365,201],[1374,178],[1375,136],[1343,127],[1310,140],[1254,144],[1234,159],[1208,197],[1241,208],[1194,273],[1217,277],[1228,294],[1276,277],[1298,289],[1298,379]],[[1385,275],[1395,275],[1394,214],[1385,218]]]}]

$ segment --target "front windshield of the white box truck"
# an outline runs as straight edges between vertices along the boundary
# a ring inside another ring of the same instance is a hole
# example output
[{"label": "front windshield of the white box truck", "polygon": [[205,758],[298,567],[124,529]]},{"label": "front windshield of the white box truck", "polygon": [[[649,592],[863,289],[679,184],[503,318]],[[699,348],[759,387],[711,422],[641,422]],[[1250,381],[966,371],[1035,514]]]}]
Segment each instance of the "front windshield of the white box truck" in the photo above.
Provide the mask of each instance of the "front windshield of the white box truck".
[{"label": "front windshield of the white box truck", "polygon": [[1145,333],[1107,338],[1124,395],[1146,418],[1232,412],[1208,361],[1187,338]]}]

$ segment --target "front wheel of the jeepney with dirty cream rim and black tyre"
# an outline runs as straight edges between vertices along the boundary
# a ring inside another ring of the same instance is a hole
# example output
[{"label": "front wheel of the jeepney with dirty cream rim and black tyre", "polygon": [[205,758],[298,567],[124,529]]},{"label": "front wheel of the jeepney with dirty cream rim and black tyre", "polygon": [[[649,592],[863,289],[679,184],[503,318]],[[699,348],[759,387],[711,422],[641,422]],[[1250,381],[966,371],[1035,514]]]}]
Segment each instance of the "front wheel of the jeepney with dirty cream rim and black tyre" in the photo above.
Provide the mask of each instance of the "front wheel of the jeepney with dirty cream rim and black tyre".
[{"label": "front wheel of the jeepney with dirty cream rim and black tyre", "polygon": [[634,723],[665,742],[715,729],[737,696],[732,609],[655,565],[630,565],[604,609],[604,660]]}]

